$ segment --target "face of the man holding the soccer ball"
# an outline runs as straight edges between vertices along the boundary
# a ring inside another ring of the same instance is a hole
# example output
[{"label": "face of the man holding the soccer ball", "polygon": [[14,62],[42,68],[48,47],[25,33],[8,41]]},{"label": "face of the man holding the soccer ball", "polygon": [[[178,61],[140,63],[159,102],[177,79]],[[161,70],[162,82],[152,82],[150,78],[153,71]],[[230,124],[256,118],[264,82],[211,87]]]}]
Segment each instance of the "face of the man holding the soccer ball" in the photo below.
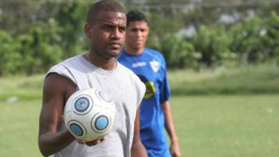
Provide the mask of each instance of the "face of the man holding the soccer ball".
[{"label": "face of the man holding the soccer ball", "polygon": [[100,11],[91,24],[85,26],[91,51],[100,57],[117,57],[126,38],[126,15]]}]

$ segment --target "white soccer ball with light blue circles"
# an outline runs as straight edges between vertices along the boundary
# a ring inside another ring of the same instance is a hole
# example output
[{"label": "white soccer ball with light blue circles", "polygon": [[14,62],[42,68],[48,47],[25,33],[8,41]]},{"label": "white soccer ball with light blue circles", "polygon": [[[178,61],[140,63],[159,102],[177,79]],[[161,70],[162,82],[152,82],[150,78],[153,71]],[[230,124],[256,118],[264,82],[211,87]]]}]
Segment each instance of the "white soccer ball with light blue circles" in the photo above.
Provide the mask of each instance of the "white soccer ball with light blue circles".
[{"label": "white soccer ball with light blue circles", "polygon": [[110,133],[115,116],[114,102],[99,89],[76,91],[64,108],[66,127],[80,140],[96,140]]}]

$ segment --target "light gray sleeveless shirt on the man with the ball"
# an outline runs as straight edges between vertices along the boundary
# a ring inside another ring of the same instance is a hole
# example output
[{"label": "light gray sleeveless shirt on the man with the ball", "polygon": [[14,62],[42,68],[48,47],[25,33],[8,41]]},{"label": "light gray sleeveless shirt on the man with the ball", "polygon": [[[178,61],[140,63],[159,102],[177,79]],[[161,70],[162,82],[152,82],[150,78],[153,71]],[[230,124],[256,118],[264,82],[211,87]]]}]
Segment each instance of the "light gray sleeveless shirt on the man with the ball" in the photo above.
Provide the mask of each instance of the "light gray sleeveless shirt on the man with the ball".
[{"label": "light gray sleeveless shirt on the man with the ball", "polygon": [[105,141],[92,147],[72,142],[54,157],[130,157],[136,110],[145,92],[137,75],[119,62],[114,70],[103,70],[81,54],[53,66],[47,75],[50,73],[68,77],[77,90],[102,89],[114,100],[117,110],[114,128]]}]

